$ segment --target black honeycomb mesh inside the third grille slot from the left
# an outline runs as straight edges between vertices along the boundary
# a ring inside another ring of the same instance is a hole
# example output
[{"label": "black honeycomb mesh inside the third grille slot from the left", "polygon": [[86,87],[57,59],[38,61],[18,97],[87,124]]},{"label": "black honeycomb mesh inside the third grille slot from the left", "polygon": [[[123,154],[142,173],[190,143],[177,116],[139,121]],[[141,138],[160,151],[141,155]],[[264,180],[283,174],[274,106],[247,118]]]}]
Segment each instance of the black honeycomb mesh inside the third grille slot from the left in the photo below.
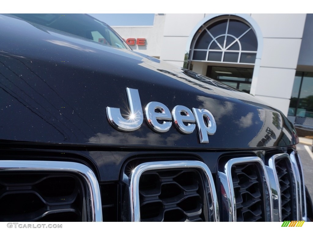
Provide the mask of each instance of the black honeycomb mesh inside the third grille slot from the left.
[{"label": "black honeycomb mesh inside the third grille slot from the left", "polygon": [[231,172],[237,221],[265,221],[263,186],[258,167],[254,163],[236,164]]}]

